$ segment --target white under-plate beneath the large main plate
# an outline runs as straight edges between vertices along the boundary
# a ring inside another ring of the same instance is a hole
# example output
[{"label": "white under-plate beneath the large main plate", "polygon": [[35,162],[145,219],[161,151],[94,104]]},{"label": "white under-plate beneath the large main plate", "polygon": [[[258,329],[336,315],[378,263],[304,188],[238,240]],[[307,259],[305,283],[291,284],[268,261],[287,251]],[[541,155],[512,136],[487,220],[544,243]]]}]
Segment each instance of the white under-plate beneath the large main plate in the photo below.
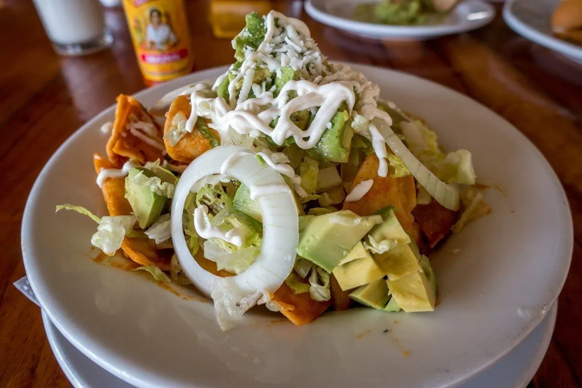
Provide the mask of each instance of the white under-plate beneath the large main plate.
[{"label": "white under-plate beneath the large main plate", "polygon": [[[544,321],[518,347],[487,371],[459,388],[525,388],[540,367],[548,350],[556,322],[556,311],[557,307],[554,305]],[[56,361],[75,388],[133,387],[80,353],[59,333],[44,312],[42,322]]]}]

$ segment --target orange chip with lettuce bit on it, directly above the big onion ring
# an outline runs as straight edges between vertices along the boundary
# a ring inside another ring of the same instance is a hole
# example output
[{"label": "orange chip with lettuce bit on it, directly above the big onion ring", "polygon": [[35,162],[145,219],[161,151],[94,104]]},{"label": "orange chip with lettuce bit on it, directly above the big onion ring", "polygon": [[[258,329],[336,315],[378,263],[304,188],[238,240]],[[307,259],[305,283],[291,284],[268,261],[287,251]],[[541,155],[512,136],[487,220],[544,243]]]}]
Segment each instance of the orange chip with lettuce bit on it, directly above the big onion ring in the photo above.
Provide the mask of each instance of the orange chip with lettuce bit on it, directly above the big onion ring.
[{"label": "orange chip with lettuce bit on it, directly above the big onion ring", "polygon": [[[190,117],[190,112],[190,100],[185,95],[176,98],[172,102],[172,105],[170,105],[170,109],[166,115],[164,134],[167,134],[170,130],[175,130],[177,127],[185,127],[186,120]],[[208,122],[206,123],[208,124]],[[220,136],[217,131],[210,128],[207,130],[209,131],[207,137],[213,136],[214,138],[209,139],[205,137],[198,129],[194,129],[191,133],[186,132],[184,137],[182,137],[175,145],[172,145],[168,138],[164,138],[168,155],[176,161],[190,163],[198,156],[208,151],[208,149],[212,148],[211,141],[214,139],[214,141],[220,141]]]}]

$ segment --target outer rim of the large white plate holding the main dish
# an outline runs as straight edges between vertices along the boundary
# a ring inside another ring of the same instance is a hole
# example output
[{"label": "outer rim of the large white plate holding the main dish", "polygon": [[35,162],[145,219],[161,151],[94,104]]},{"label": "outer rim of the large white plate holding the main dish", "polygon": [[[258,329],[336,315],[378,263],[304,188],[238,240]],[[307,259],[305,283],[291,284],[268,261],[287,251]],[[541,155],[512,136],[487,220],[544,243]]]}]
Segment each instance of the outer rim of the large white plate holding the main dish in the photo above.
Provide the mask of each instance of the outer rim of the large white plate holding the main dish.
[{"label": "outer rim of the large white plate holding the main dish", "polygon": [[[521,140],[525,141],[528,145],[530,145],[530,147],[532,147],[535,150],[535,153],[537,154],[538,158],[540,158],[540,162],[548,170],[549,176],[551,176],[552,179],[554,180],[555,186],[556,186],[556,188],[558,188],[559,194],[561,194],[561,199],[563,201],[565,201],[565,204],[566,204],[566,206],[565,206],[565,211],[566,211],[565,221],[566,221],[566,223],[565,223],[565,225],[563,225],[563,227],[565,227],[565,230],[570,232],[566,236],[567,237],[566,243],[569,246],[569,249],[566,250],[566,252],[569,252],[569,255],[567,258],[567,269],[568,270],[563,274],[562,279],[559,283],[559,287],[556,288],[556,290],[559,290],[559,291],[557,291],[555,293],[555,295],[552,297],[552,300],[548,302],[548,305],[555,304],[555,302],[558,299],[558,296],[561,293],[563,286],[566,282],[566,277],[569,273],[570,265],[572,262],[573,238],[574,238],[574,236],[573,236],[573,219],[572,219],[572,212],[571,212],[570,207],[568,205],[569,201],[567,200],[565,190],[562,186],[562,183],[559,180],[559,177],[556,175],[552,166],[549,164],[549,162],[547,161],[545,156],[541,153],[541,151],[535,146],[535,144],[533,144],[523,133],[521,133],[520,130],[518,130],[515,126],[513,126],[513,124],[509,123],[502,116],[498,115],[498,113],[496,113],[495,111],[492,111],[492,109],[489,109],[484,104],[481,104],[481,102],[479,102],[473,98],[470,98],[469,96],[464,95],[464,94],[462,94],[456,90],[453,90],[447,86],[444,86],[442,84],[436,83],[436,82],[431,81],[431,80],[424,79],[422,77],[415,76],[413,74],[400,72],[398,70],[386,69],[384,67],[370,66],[370,65],[352,63],[352,62],[340,62],[340,63],[345,63],[346,65],[348,65],[350,67],[358,67],[359,68],[358,70],[362,71],[364,73],[369,72],[369,71],[374,71],[374,70],[381,70],[382,72],[396,73],[396,74],[398,74],[399,77],[411,77],[413,79],[421,80],[423,82],[428,82],[428,83],[432,84],[432,86],[435,86],[437,88],[441,88],[441,90],[443,90],[443,91],[446,91],[449,93],[452,92],[457,97],[464,98],[464,99],[468,100],[469,102],[471,102],[471,104],[477,104],[480,106],[480,108],[486,109],[490,115],[495,115],[498,120],[503,120],[503,122],[505,122],[505,124],[508,127],[513,129],[515,136],[521,137]],[[228,65],[227,66],[212,67],[210,69],[204,69],[204,70],[201,70],[199,72],[190,73],[187,76],[179,77],[178,79],[169,81],[168,83],[164,83],[164,84],[152,87],[152,88],[146,88],[144,90],[140,90],[139,92],[136,92],[135,94],[133,94],[133,96],[136,97],[137,99],[140,99],[140,97],[142,95],[149,94],[152,91],[161,90],[162,88],[169,88],[169,87],[176,88],[179,86],[184,86],[185,84],[191,83],[192,82],[191,79],[205,80],[205,79],[208,79],[208,77],[211,77],[211,76],[208,76],[207,74],[219,73],[219,71],[223,72],[226,69],[228,69]],[[84,345],[84,343],[88,343],[88,344],[91,344],[93,347],[96,347],[94,340],[91,339],[90,336],[87,336],[87,335],[81,336],[81,337],[83,337],[84,342],[81,342],[80,340],[76,339],[73,336],[73,334],[70,332],[77,332],[77,334],[83,333],[83,328],[80,325],[77,325],[75,322],[71,321],[70,319],[68,319],[67,316],[65,316],[63,314],[61,314],[61,316],[59,316],[60,319],[56,319],[56,316],[51,311],[52,308],[50,307],[50,304],[54,304],[55,301],[45,300],[45,298],[47,297],[47,293],[43,292],[42,288],[48,289],[48,287],[46,287],[46,284],[43,284],[42,276],[41,276],[40,272],[37,273],[37,271],[34,269],[34,263],[33,263],[34,258],[31,257],[31,254],[28,252],[29,251],[28,247],[30,245],[33,245],[33,244],[31,241],[27,241],[27,238],[26,238],[27,229],[30,229],[29,225],[32,225],[32,223],[34,222],[34,220],[33,220],[33,216],[34,216],[33,205],[34,205],[34,202],[36,202],[36,198],[38,197],[38,195],[40,195],[40,191],[38,191],[38,187],[41,186],[41,184],[44,182],[45,179],[47,179],[47,177],[45,177],[45,175],[48,174],[48,170],[51,168],[52,164],[54,164],[56,162],[56,160],[59,158],[59,155],[62,152],[64,152],[65,149],[68,148],[69,145],[71,143],[73,143],[73,141],[77,137],[81,136],[81,133],[83,133],[88,127],[95,126],[95,123],[98,123],[98,122],[100,122],[100,120],[103,120],[103,118],[105,116],[112,115],[114,110],[115,110],[115,105],[109,106],[108,108],[104,109],[104,111],[101,111],[100,113],[95,115],[94,118],[89,120],[87,123],[83,124],[83,126],[79,127],[79,129],[74,131],[74,133],[71,134],[71,136],[69,136],[69,138],[67,138],[67,140],[63,144],[61,144],[61,146],[58,149],[56,149],[54,154],[51,156],[51,158],[48,159],[48,161],[45,163],[44,167],[42,168],[41,172],[38,174],[36,180],[34,181],[33,187],[31,188],[29,198],[26,201],[26,206],[25,206],[24,212],[23,212],[22,227],[20,230],[23,262],[24,262],[24,268],[26,269],[26,273],[29,276],[31,287],[32,287],[34,293],[38,297],[38,301],[40,302],[41,308],[47,313],[47,315],[49,316],[51,321],[54,323],[56,328],[59,330],[59,332],[61,332],[63,334],[63,336],[65,336],[65,338],[67,340],[69,340],[70,343],[73,344],[74,347],[79,349],[81,351],[81,353],[87,355],[87,357],[92,359],[95,363],[100,365],[102,368],[111,372],[113,375],[116,375],[119,378],[125,380],[126,382],[133,384],[133,385],[136,385],[136,386],[143,386],[143,387],[148,386],[148,387],[154,388],[154,386],[151,386],[151,385],[144,385],[144,383],[148,384],[147,382],[145,382],[144,379],[135,379],[134,376],[131,376],[128,373],[125,373],[124,371],[116,368],[116,366],[113,365],[111,362],[107,361],[106,358],[108,358],[108,356],[111,355],[111,353],[108,350],[105,350],[104,348],[100,348],[99,353],[100,353],[101,357],[98,357],[98,355],[96,353],[94,353],[86,345]],[[47,308],[47,306],[49,308]],[[496,357],[489,359],[489,361],[486,362],[485,364],[481,365],[478,368],[475,368],[470,373],[469,376],[463,376],[463,377],[458,378],[456,380],[451,380],[446,386],[447,387],[458,386],[461,383],[466,382],[467,380],[469,380],[473,376],[477,375],[478,373],[485,371],[485,369],[489,368],[490,366],[492,366],[493,364],[498,362],[499,359],[505,357],[505,355],[507,355],[514,348],[516,348],[528,335],[531,334],[531,332],[533,332],[533,330],[535,330],[535,328],[537,328],[537,326],[540,324],[540,322],[542,322],[542,320],[548,314],[548,311],[549,311],[549,309],[546,309],[546,311],[543,311],[542,314],[540,314],[536,317],[536,319],[532,319],[528,323],[526,328],[524,328],[518,336],[514,337],[514,339],[512,341],[510,341],[510,346],[506,346],[505,350],[502,351],[501,353],[499,353]],[[67,327],[69,329],[67,329]]]}]

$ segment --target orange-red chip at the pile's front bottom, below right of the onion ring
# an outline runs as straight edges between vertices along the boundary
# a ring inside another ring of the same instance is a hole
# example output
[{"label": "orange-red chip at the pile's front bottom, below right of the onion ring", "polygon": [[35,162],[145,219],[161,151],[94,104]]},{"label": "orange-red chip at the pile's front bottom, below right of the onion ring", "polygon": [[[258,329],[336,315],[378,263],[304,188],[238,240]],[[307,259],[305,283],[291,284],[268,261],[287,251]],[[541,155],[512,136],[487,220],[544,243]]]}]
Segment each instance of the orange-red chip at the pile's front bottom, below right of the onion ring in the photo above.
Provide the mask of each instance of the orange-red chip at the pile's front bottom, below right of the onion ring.
[{"label": "orange-red chip at the pile's front bottom, below right of the onion ring", "polygon": [[279,304],[281,313],[297,326],[313,321],[331,305],[331,301],[318,302],[311,299],[310,293],[294,294],[285,282],[275,291],[272,301]]}]

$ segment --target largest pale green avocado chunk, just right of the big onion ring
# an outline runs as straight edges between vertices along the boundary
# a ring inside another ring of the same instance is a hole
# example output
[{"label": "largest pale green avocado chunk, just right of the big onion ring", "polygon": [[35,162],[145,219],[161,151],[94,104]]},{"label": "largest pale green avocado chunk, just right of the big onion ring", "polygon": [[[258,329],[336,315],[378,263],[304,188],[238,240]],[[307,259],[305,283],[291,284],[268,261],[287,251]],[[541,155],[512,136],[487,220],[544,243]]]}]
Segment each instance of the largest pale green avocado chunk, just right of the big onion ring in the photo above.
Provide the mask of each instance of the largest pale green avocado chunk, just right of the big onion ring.
[{"label": "largest pale green avocado chunk, just right of the big onion ring", "polygon": [[332,272],[354,245],[378,222],[349,210],[314,216],[299,233],[297,254]]}]

